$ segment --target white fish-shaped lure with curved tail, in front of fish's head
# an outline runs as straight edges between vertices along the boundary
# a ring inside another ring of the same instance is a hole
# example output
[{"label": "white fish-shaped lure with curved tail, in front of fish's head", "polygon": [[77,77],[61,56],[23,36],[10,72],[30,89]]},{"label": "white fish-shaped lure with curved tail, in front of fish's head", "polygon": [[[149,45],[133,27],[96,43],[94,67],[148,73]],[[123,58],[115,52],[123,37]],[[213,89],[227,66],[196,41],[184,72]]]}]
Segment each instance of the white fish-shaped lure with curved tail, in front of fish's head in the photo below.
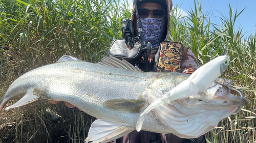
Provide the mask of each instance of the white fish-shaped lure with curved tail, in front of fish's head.
[{"label": "white fish-shaped lure with curved tail, in front of fish's head", "polygon": [[173,90],[169,91],[158,100],[152,102],[141,113],[137,121],[136,130],[141,130],[145,115],[153,108],[165,103],[170,103],[171,101],[177,99],[196,95],[198,92],[205,91],[210,86],[210,84],[214,82],[226,70],[228,63],[228,56],[222,55],[197,69],[188,77],[187,80],[184,80]]}]

